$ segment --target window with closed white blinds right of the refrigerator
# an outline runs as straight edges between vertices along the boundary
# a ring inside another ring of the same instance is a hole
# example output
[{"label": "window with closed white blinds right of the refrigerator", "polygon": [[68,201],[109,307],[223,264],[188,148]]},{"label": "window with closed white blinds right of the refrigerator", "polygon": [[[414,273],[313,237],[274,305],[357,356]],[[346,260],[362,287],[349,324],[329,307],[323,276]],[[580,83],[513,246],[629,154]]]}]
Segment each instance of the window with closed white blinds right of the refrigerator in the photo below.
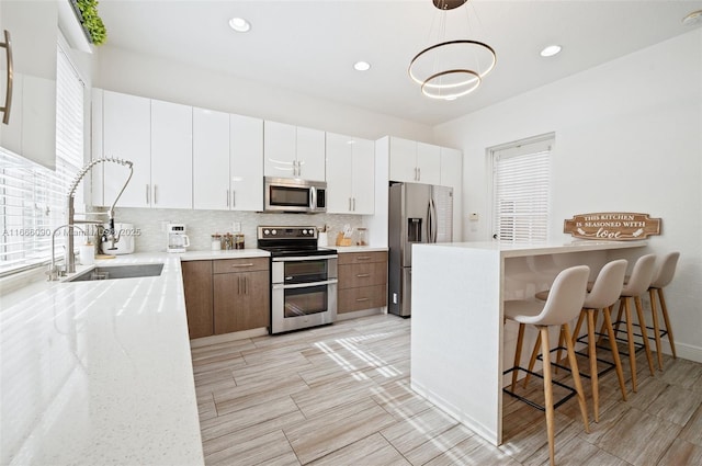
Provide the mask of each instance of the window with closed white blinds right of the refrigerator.
[{"label": "window with closed white blinds right of the refrigerator", "polygon": [[489,149],[492,162],[494,238],[548,240],[553,135]]}]

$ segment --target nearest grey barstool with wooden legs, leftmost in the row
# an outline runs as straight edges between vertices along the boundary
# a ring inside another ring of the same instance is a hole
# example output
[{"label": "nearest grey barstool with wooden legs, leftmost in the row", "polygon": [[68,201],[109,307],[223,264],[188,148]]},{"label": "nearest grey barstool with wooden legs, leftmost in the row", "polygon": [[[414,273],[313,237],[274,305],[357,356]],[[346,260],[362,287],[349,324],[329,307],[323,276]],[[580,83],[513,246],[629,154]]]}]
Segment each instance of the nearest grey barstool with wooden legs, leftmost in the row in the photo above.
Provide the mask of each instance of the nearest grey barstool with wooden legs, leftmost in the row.
[{"label": "nearest grey barstool with wooden legs, leftmost in the row", "polygon": [[[568,348],[568,361],[570,362],[570,367],[573,368],[571,373],[575,382],[576,393],[578,396],[578,404],[580,405],[580,413],[582,414],[582,423],[585,424],[585,431],[588,433],[590,432],[590,427],[588,423],[588,411],[585,404],[585,396],[582,394],[582,385],[580,384],[580,376],[578,373],[578,362],[575,359],[570,327],[568,325],[568,322],[575,319],[575,317],[582,308],[589,275],[590,268],[588,268],[587,265],[577,265],[570,269],[566,269],[561,272],[554,280],[551,287],[551,293],[545,303],[536,300],[505,302],[505,317],[519,323],[517,350],[514,352],[514,366],[508,371],[505,371],[505,374],[513,372],[512,390],[514,389],[514,385],[517,383],[517,372],[520,370],[525,371],[523,367],[519,366],[521,360],[522,342],[524,339],[524,326],[526,323],[535,326],[539,329],[541,336],[544,359],[544,397],[546,405],[544,410],[546,412],[548,456],[552,465],[555,464],[555,419],[550,362],[551,349],[548,344],[550,326],[559,326],[564,329],[566,336],[566,345]],[[506,389],[505,391],[513,395]]]}]

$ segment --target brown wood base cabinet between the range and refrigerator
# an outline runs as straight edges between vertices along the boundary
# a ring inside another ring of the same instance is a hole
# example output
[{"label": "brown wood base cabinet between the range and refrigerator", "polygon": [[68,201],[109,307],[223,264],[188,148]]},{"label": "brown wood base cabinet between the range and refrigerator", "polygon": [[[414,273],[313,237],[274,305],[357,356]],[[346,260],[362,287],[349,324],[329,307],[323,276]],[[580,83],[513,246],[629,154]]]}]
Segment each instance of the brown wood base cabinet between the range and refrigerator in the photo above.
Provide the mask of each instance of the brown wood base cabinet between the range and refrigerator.
[{"label": "brown wood base cabinet between the range and refrigerator", "polygon": [[387,252],[339,254],[337,314],[387,305]]}]

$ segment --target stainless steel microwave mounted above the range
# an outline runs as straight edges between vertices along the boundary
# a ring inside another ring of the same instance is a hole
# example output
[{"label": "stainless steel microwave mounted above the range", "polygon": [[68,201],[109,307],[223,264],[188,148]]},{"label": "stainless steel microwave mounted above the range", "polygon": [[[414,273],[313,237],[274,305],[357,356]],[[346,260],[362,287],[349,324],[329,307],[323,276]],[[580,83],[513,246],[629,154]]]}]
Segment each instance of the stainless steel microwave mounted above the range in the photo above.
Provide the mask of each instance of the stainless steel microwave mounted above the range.
[{"label": "stainless steel microwave mounted above the range", "polygon": [[263,179],[264,212],[327,212],[327,183],[293,178]]}]

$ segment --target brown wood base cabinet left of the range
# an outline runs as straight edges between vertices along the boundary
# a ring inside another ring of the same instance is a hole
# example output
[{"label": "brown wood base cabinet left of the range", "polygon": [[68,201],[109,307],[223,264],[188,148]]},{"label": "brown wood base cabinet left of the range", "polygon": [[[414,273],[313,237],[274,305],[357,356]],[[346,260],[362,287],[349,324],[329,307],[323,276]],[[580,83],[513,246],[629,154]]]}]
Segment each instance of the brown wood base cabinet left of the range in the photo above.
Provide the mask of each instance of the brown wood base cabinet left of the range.
[{"label": "brown wood base cabinet left of the range", "polygon": [[268,258],[181,263],[190,338],[270,327]]}]

